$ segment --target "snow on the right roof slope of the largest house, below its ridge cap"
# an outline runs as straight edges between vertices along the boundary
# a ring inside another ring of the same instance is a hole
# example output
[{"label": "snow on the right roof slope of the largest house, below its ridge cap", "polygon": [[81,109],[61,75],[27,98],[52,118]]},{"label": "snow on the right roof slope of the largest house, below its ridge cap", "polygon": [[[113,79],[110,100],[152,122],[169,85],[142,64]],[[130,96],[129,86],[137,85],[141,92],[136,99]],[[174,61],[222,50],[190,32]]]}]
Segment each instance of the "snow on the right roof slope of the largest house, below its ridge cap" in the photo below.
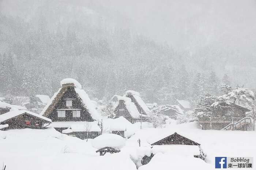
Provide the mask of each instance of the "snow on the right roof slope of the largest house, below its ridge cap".
[{"label": "snow on the right roof slope of the largest house, below its ridge cap", "polygon": [[83,89],[79,89],[79,88],[75,88],[75,91],[79,95],[79,97],[82,99],[85,107],[89,110],[91,117],[94,120],[100,120],[100,115],[95,110],[95,105],[91,102],[91,99],[89,98],[88,94]]}]

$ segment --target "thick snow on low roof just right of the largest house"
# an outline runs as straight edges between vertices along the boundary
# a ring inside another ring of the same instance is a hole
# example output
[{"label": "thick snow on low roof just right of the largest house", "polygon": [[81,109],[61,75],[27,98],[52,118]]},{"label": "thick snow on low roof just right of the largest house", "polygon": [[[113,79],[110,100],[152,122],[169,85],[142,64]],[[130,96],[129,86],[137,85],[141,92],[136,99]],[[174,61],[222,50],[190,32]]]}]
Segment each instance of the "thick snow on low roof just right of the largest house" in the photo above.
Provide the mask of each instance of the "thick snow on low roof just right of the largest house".
[{"label": "thick snow on low roof just right of the largest house", "polygon": [[120,116],[116,119],[102,120],[103,131],[125,131],[131,127],[132,123]]}]

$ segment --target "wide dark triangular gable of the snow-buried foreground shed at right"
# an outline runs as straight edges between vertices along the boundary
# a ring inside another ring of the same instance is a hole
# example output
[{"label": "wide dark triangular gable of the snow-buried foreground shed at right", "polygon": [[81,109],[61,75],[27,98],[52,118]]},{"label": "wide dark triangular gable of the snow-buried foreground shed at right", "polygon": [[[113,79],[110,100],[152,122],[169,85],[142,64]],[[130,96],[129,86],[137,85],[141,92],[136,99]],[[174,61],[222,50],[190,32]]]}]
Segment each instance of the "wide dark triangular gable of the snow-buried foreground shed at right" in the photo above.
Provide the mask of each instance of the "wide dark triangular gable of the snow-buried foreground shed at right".
[{"label": "wide dark triangular gable of the snow-buried foreground shed at right", "polygon": [[196,143],[191,139],[185,138],[184,136],[181,136],[176,132],[151,145],[164,145],[164,144],[184,144],[184,145],[198,145],[198,146],[200,145],[199,143]]}]

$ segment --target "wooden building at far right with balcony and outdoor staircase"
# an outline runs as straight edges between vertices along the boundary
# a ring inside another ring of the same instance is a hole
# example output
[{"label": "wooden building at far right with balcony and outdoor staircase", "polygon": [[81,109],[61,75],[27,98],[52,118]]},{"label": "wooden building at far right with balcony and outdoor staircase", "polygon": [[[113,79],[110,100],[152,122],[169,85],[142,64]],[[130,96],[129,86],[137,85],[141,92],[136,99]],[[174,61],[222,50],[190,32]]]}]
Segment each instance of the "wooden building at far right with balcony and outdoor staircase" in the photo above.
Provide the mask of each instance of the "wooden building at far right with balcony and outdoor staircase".
[{"label": "wooden building at far right with balcony and outdoor staircase", "polygon": [[212,104],[212,117],[201,117],[198,122],[203,130],[248,130],[252,125],[251,117],[246,113],[251,110],[231,102],[215,102]]}]

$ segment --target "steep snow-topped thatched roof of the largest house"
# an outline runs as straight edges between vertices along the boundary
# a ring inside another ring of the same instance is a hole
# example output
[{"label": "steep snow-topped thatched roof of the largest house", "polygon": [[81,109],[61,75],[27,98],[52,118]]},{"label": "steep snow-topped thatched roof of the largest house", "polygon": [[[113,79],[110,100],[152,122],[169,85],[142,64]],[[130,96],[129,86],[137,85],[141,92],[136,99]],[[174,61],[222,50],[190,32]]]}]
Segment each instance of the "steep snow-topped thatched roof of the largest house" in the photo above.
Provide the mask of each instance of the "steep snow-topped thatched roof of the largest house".
[{"label": "steep snow-topped thatched roof of the largest house", "polygon": [[45,106],[45,108],[40,113],[41,115],[48,116],[57,103],[61,100],[61,98],[64,96],[64,94],[67,92],[68,88],[70,86],[74,86],[75,92],[83,103],[83,107],[87,109],[87,111],[90,113],[91,117],[94,120],[99,120],[100,115],[95,110],[94,104],[91,102],[88,94],[82,89],[82,86],[80,83],[72,78],[67,78],[61,81],[62,88],[58,90],[58,92],[54,93],[48,104]]}]

